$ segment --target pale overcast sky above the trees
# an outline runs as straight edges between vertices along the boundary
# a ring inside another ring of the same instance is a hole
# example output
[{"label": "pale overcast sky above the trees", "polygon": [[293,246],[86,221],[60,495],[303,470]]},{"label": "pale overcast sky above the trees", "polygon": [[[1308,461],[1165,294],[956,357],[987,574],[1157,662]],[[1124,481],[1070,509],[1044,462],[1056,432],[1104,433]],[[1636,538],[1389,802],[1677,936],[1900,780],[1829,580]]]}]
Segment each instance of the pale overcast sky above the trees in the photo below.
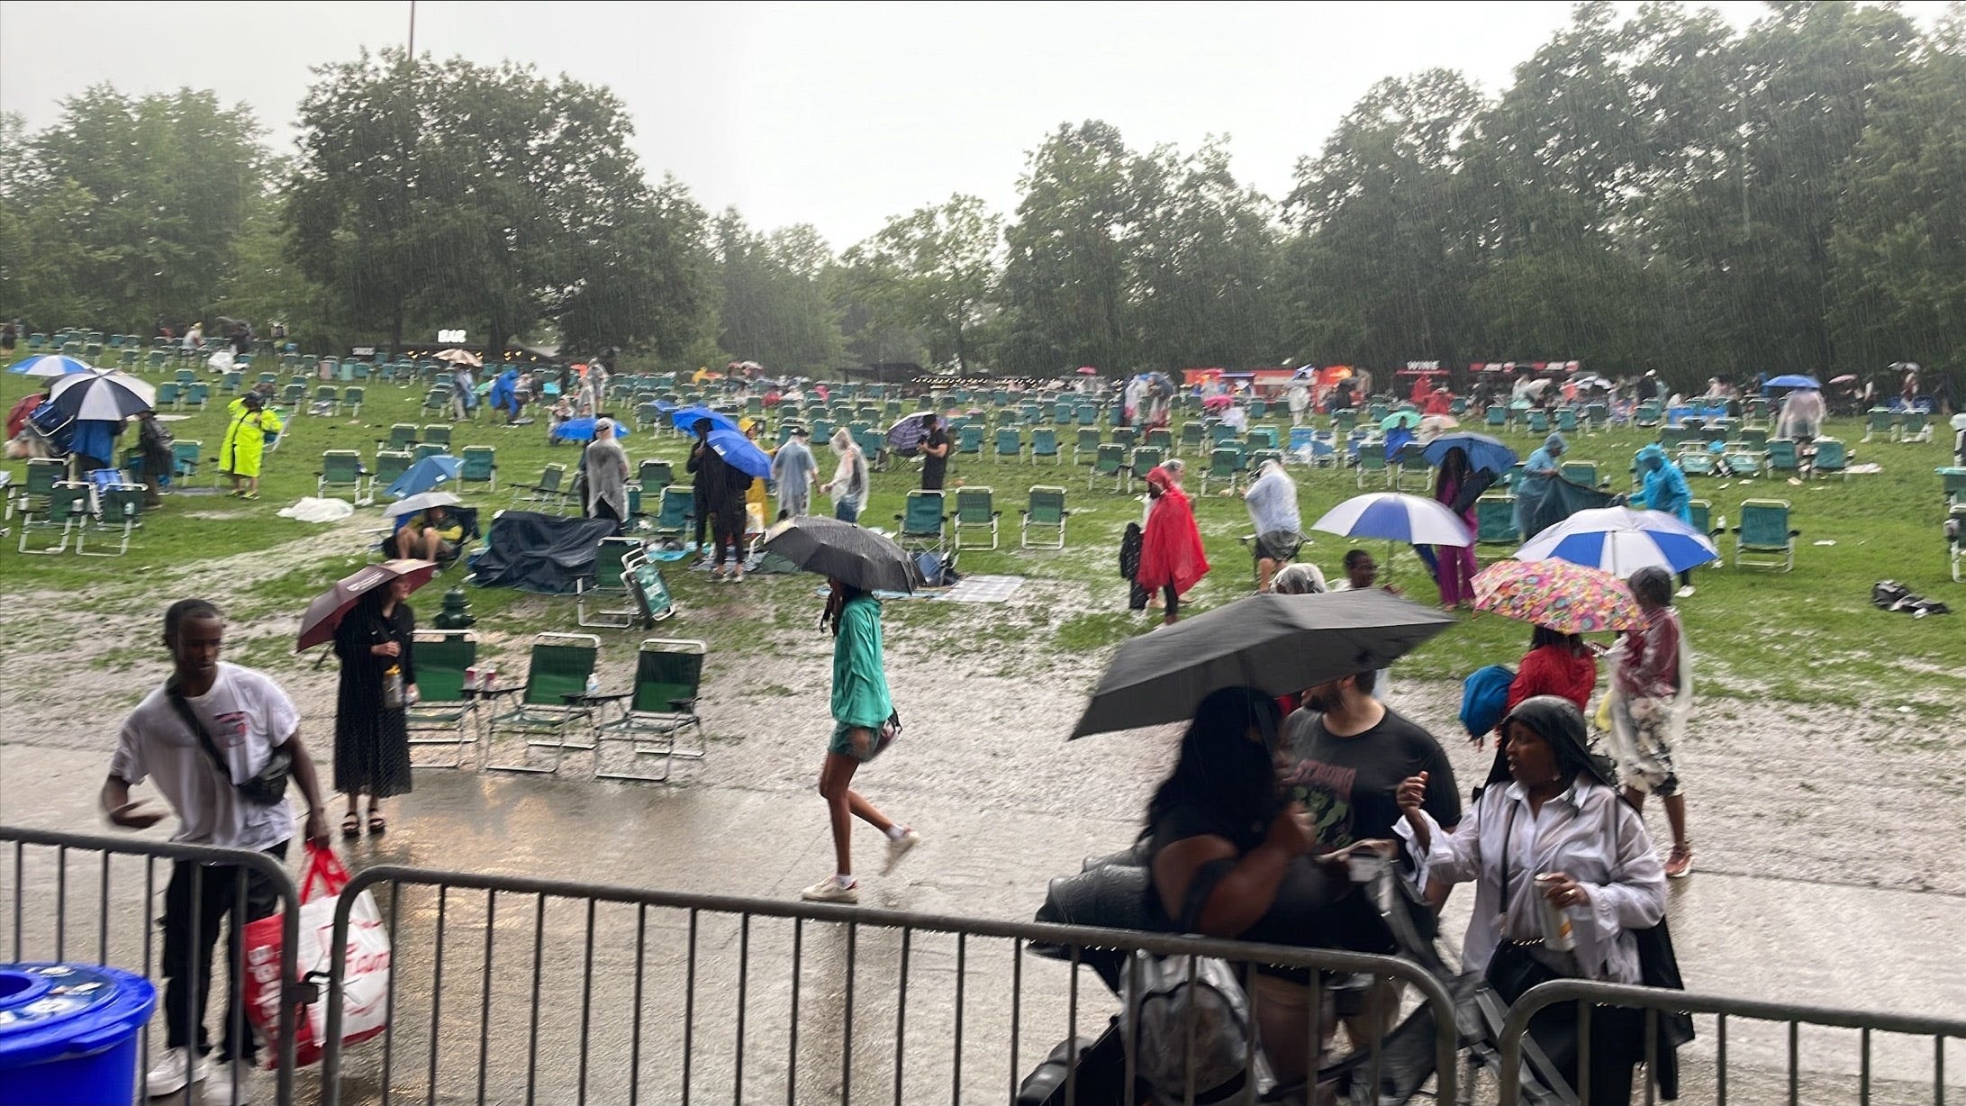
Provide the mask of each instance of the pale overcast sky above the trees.
[{"label": "pale overcast sky above the trees", "polygon": [[[1736,26],[1760,4],[1710,4]],[[1630,8],[1622,4],[1620,8]],[[1938,2],[1905,4],[1931,24]],[[975,193],[1009,214],[1024,155],[1101,118],[1128,145],[1231,136],[1272,196],[1380,77],[1453,67],[1496,92],[1569,22],[1565,2],[1410,4],[466,4],[421,0],[417,51],[511,57],[611,86],[651,179],[836,249],[891,214]],[[293,143],[309,67],[403,45],[407,0],[0,2],[0,110],[183,84],[244,100]],[[4,157],[4,151],[0,151]]]}]

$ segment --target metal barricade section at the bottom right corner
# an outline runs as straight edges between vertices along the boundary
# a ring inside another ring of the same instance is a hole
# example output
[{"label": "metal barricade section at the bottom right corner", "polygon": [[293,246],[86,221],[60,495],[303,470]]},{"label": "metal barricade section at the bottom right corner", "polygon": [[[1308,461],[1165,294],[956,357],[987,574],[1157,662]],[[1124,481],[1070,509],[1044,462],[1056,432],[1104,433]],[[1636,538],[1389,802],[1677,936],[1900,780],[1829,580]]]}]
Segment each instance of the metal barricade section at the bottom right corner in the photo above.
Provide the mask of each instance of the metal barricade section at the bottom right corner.
[{"label": "metal barricade section at the bottom right corner", "polygon": [[[1541,986],[1532,988],[1524,994],[1510,1010],[1508,1020],[1502,1025],[1502,1075],[1500,1075],[1500,1102],[1518,1102],[1522,1096],[1522,1057],[1524,1057],[1524,1037],[1530,1029],[1530,1020],[1535,1018],[1545,1008],[1557,1006],[1561,1002],[1577,1004],[1577,1037],[1579,1037],[1579,1069],[1590,1067],[1590,1016],[1598,1008],[1626,1008],[1644,1010],[1644,1055],[1655,1057],[1659,1047],[1659,1016],[1661,1014],[1701,1014],[1714,1016],[1712,1023],[1712,1043],[1716,1049],[1714,1061],[1714,1086],[1712,1102],[1716,1106],[1726,1106],[1728,1102],[1728,1020],[1744,1018],[1752,1022],[1775,1022],[1787,1027],[1785,1053],[1787,1063],[1783,1067],[1785,1102],[1789,1106],[1799,1106],[1803,1098],[1803,1025],[1838,1027],[1858,1031],[1858,1086],[1856,1102],[1870,1106],[1876,1078],[1874,1078],[1874,1035],[1893,1033],[1911,1037],[1931,1037],[1933,1041],[1933,1106],[1944,1106],[1946,1100],[1946,1037],[1966,1039],[1966,1020],[1960,1018],[1919,1018],[1907,1014],[1870,1014],[1858,1010],[1840,1010],[1830,1006],[1807,1006],[1799,1002],[1762,1002],[1752,998],[1728,998],[1716,994],[1691,994],[1685,990],[1661,990],[1649,986],[1630,986],[1612,984],[1596,980],[1551,980]],[[1895,1063],[1905,1063],[1899,1057]],[[1681,1061],[1681,1069],[1685,1069]],[[1887,1069],[1885,1075],[1899,1082],[1921,1080],[1917,1077],[1905,1078],[1903,1069]],[[1683,1078],[1685,1082],[1685,1078]],[[1590,1088],[1581,1086],[1579,1100],[1583,1106],[1590,1106]],[[1646,1104],[1649,1106],[1657,1094],[1655,1073],[1651,1065],[1646,1065],[1644,1075]],[[1817,1092],[1821,1094],[1821,1092]],[[1756,1102],[1769,1100],[1765,1094],[1752,1096]],[[1705,1100],[1697,1094],[1687,1094],[1681,1090],[1681,1100]]]}]

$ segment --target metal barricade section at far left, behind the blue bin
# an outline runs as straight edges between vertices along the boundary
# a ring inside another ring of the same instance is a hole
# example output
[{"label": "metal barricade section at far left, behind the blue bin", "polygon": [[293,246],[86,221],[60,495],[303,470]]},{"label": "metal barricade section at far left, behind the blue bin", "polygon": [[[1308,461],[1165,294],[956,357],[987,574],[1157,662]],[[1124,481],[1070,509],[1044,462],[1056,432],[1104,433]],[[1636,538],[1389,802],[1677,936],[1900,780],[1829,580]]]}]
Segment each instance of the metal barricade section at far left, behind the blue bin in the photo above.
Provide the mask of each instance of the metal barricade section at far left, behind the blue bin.
[{"label": "metal barricade section at far left, behind the blue bin", "polygon": [[[246,1039],[252,1029],[246,1022],[246,1004],[228,1004],[234,980],[244,980],[248,970],[261,980],[287,980],[281,984],[279,1041],[275,1045],[275,1102],[293,1102],[293,1045],[295,1045],[295,1004],[299,988],[295,982],[295,951],[301,919],[301,898],[285,864],[267,855],[246,849],[212,849],[204,845],[177,845],[171,841],[149,841],[140,837],[96,837],[81,833],[47,833],[39,829],[20,829],[0,825],[0,843],[12,849],[12,888],[0,884],[0,898],[12,900],[6,908],[6,935],[0,949],[12,963],[28,961],[88,961],[142,974],[157,984],[157,1010],[142,1029],[140,1057],[161,1055],[151,1049],[151,1027],[167,1025],[167,988],[163,984],[163,941],[159,935],[159,896],[167,894],[169,882],[183,876],[181,892],[189,900],[189,929],[202,927],[218,931],[218,925],[202,917],[206,908],[206,884],[210,880],[230,880],[232,890],[220,892],[232,898],[232,917],[246,917],[248,880],[234,878],[234,868],[261,876],[279,898],[283,912],[279,963],[246,965],[246,941],[238,941],[236,955],[226,970],[212,972],[202,963],[208,955],[202,941],[191,941],[185,972],[191,978],[208,974],[212,988],[204,1004],[189,1004],[187,1023],[181,1025],[185,1039],[199,1041],[199,1006],[204,1006],[202,1022],[212,1029],[210,1039],[218,1043],[226,1037],[226,1010],[232,1010],[232,1039]],[[92,857],[92,860],[90,860]],[[124,862],[118,862],[124,860]],[[173,860],[167,880],[157,878],[157,860]],[[83,868],[71,876],[71,868]],[[216,870],[216,872],[214,872]],[[0,876],[6,870],[0,868]],[[142,886],[142,898],[130,894],[132,886]],[[216,945],[224,949],[224,945]],[[218,955],[218,953],[212,953]],[[216,967],[216,965],[212,965]],[[271,974],[277,972],[277,974]],[[138,1063],[138,1080],[144,1078],[144,1063]],[[230,1092],[216,1090],[224,1080],[208,1082],[202,1102],[212,1106],[228,1102]],[[132,1088],[142,1098],[140,1088]]]}]

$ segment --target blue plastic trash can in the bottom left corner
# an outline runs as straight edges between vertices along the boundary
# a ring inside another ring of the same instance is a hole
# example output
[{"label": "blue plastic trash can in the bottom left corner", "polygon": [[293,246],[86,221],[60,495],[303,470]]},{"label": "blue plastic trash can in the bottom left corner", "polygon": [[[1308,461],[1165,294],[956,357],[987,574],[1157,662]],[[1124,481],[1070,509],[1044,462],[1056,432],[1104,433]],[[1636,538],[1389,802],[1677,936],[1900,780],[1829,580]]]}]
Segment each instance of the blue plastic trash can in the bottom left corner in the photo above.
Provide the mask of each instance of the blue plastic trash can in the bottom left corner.
[{"label": "blue plastic trash can in the bottom left corner", "polygon": [[0,965],[0,1106],[130,1106],[157,988],[94,965]]}]

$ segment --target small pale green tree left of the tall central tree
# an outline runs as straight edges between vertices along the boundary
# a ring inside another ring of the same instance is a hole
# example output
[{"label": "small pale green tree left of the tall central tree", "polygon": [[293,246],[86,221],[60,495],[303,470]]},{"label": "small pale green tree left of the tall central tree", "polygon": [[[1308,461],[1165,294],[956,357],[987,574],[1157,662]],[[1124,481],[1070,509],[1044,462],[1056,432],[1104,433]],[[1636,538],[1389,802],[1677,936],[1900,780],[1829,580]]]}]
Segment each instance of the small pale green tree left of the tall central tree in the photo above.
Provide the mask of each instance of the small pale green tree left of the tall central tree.
[{"label": "small pale green tree left of the tall central tree", "polygon": [[[954,194],[940,206],[887,220],[847,249],[843,273],[887,330],[926,336],[934,363],[975,367],[987,356],[997,306],[997,244],[1003,220],[981,198]],[[873,358],[900,359],[900,358]]]}]

